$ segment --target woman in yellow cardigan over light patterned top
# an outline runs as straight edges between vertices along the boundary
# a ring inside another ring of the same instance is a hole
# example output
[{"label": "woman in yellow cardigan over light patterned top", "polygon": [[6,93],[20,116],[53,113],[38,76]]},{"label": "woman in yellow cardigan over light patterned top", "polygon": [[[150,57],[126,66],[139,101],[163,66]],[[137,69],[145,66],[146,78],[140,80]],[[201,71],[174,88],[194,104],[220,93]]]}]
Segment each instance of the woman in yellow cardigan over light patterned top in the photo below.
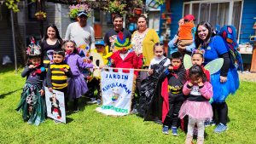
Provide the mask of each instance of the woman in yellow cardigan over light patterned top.
[{"label": "woman in yellow cardigan over light patterned top", "polygon": [[137,54],[143,54],[143,66],[149,66],[154,57],[154,44],[159,43],[159,37],[154,29],[147,26],[147,18],[140,15],[137,19],[138,30],[131,36],[132,49]]}]

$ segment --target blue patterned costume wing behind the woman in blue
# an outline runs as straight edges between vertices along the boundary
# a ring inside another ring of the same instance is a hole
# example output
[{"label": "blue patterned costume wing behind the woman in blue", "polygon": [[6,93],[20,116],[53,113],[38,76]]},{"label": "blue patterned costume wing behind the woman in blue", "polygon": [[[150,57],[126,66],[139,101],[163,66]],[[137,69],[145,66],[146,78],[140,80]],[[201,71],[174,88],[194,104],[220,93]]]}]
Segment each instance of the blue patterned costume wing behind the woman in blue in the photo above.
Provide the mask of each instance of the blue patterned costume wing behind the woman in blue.
[{"label": "blue patterned costume wing behind the woman in blue", "polygon": [[223,37],[226,48],[229,51],[230,59],[236,68],[243,71],[243,65],[241,60],[241,54],[238,52],[238,43],[236,41],[236,27],[235,26],[223,26],[218,32],[220,37]]}]

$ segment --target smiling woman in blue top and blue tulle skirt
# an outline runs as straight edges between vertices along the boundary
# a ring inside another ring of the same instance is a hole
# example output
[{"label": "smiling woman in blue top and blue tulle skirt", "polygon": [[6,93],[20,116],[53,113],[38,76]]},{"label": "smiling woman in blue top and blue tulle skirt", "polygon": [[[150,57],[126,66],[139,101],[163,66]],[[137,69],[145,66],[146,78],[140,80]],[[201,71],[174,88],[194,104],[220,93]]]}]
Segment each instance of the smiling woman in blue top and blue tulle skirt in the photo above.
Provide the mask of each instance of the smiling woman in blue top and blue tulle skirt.
[{"label": "smiling woman in blue top and blue tulle skirt", "polygon": [[205,50],[205,63],[217,58],[223,58],[224,64],[219,72],[211,75],[213,88],[213,119],[218,112],[218,126],[214,132],[224,132],[227,130],[228,106],[225,99],[228,95],[234,94],[239,87],[239,78],[236,67],[230,63],[230,55],[222,37],[212,37],[212,26],[208,22],[202,21],[195,32],[195,45],[198,49]]}]

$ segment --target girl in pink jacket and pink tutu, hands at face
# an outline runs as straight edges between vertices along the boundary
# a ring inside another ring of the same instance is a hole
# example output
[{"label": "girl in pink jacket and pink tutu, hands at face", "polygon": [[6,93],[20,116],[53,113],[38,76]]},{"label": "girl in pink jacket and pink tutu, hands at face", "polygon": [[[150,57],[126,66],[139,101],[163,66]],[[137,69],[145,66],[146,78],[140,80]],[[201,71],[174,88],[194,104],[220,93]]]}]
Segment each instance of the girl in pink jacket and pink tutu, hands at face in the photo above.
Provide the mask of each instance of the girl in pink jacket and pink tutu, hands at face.
[{"label": "girl in pink jacket and pink tutu, hands at face", "polygon": [[207,81],[207,76],[201,66],[189,68],[189,80],[183,86],[183,94],[188,95],[179,111],[178,117],[189,116],[188,133],[185,143],[190,144],[193,139],[193,130],[197,125],[197,143],[204,142],[205,120],[212,118],[212,84]]}]

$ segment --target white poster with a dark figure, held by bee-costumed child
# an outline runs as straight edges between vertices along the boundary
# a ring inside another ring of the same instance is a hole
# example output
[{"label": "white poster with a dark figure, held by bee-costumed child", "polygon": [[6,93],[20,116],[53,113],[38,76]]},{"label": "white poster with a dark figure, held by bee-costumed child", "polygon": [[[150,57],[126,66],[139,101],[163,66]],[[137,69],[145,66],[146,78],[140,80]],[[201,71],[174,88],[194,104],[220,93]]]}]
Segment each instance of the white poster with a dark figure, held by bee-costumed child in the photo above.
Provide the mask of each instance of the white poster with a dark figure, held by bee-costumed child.
[{"label": "white poster with a dark figure, held by bee-costumed child", "polygon": [[57,90],[53,90],[51,93],[47,87],[44,87],[44,90],[47,116],[66,124],[64,93]]}]

